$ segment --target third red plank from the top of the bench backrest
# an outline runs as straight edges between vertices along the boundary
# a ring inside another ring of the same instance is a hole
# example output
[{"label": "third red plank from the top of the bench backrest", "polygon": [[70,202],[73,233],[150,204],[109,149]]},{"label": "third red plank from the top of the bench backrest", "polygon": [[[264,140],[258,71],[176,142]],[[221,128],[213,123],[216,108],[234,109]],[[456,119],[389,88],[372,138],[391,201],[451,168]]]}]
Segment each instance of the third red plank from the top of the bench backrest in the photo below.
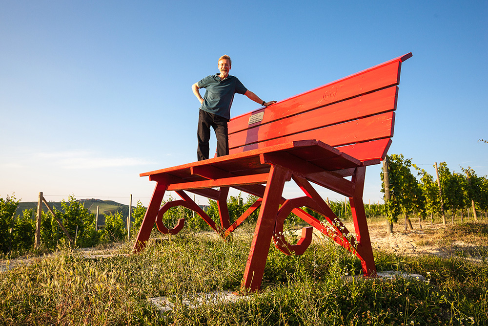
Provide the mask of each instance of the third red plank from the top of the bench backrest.
[{"label": "third red plank from the top of the bench backrest", "polygon": [[[290,142],[303,139],[320,139],[330,146],[350,145],[367,140],[381,139],[393,136],[395,113],[386,112],[361,120],[350,121],[340,125],[334,125],[316,130],[308,130],[293,135],[270,139],[267,141],[232,148],[229,152],[245,152],[269,146],[278,145],[281,142]],[[230,143],[230,136],[229,136]]]}]

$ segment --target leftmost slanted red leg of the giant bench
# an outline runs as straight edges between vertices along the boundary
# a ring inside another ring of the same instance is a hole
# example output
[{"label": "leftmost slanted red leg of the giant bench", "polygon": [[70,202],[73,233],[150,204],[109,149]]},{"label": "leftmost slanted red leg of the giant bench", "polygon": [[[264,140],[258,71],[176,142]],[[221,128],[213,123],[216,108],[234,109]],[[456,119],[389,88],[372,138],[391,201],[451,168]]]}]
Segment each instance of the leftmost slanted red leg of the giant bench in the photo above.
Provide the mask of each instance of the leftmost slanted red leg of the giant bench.
[{"label": "leftmost slanted red leg of the giant bench", "polygon": [[147,207],[146,214],[142,220],[141,228],[137,234],[136,242],[134,243],[133,253],[140,252],[146,246],[146,242],[151,235],[154,222],[156,221],[156,216],[158,215],[159,208],[163,202],[163,196],[166,192],[166,183],[158,182],[154,188],[151,201]]}]

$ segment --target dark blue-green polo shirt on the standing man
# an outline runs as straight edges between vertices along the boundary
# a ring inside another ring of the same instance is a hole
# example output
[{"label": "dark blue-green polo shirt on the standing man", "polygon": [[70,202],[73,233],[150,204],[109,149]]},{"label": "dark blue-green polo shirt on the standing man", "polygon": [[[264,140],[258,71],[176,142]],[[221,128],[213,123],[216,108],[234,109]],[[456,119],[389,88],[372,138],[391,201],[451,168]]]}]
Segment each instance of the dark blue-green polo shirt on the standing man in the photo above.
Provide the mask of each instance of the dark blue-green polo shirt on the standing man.
[{"label": "dark blue-green polo shirt on the standing man", "polygon": [[247,88],[235,77],[228,75],[220,80],[219,74],[210,75],[197,83],[199,88],[205,88],[201,110],[220,115],[230,120],[230,107],[234,101],[234,94],[244,94]]}]

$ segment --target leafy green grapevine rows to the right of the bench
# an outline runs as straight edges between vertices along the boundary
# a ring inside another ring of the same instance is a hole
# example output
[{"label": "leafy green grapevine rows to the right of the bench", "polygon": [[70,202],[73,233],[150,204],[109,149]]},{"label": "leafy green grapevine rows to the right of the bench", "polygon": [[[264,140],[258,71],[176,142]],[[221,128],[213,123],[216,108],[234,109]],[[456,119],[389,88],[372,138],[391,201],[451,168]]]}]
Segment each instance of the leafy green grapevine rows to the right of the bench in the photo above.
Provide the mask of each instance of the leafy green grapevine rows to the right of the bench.
[{"label": "leafy green grapevine rows to the right of the bench", "polygon": [[[385,164],[386,163],[386,164]],[[385,168],[385,165],[387,166]],[[447,214],[454,222],[459,215],[461,222],[469,218],[478,219],[480,212],[486,218],[488,210],[488,178],[477,176],[475,171],[461,168],[463,173],[450,172],[446,162],[435,164],[437,182],[424,169],[406,159],[403,155],[386,156],[384,170],[381,174],[382,192],[385,193],[385,206],[382,210],[390,221],[390,225],[405,217],[406,227],[412,228],[411,219],[415,216],[419,222],[442,218],[446,225]],[[414,175],[417,174],[417,177]],[[386,179],[389,185],[386,186]]]}]

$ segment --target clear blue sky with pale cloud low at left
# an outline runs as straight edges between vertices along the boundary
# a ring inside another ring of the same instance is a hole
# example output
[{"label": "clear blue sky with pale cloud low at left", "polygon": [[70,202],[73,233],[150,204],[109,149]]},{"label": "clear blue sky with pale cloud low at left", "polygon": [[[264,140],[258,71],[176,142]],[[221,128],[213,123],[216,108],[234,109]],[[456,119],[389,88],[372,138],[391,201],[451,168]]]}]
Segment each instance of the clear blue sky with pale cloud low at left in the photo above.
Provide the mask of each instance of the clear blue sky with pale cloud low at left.
[{"label": "clear blue sky with pale cloud low at left", "polygon": [[[0,196],[147,205],[140,173],[196,160],[191,85],[223,54],[279,101],[412,52],[389,153],[486,175],[487,17],[488,1],[0,0]],[[231,114],[258,107],[236,95]]]}]

